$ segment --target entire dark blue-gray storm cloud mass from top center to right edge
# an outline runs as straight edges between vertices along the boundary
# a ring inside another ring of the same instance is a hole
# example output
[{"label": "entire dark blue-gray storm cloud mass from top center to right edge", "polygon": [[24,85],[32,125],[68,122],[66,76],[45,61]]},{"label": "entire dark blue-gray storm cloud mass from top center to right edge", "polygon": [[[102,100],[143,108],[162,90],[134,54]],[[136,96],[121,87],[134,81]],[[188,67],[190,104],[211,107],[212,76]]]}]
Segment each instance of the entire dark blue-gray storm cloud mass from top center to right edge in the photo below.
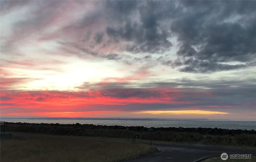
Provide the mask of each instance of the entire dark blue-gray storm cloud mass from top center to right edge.
[{"label": "entire dark blue-gray storm cloud mass from top center to right edge", "polygon": [[[180,58],[164,61],[163,65],[206,73],[248,67],[255,62],[254,1],[109,1],[108,7],[118,8],[111,12],[117,23],[108,26],[106,34],[116,42],[130,42],[127,51],[161,53],[172,45],[168,38],[178,38],[176,54]],[[241,63],[228,64],[232,61]]]}]

